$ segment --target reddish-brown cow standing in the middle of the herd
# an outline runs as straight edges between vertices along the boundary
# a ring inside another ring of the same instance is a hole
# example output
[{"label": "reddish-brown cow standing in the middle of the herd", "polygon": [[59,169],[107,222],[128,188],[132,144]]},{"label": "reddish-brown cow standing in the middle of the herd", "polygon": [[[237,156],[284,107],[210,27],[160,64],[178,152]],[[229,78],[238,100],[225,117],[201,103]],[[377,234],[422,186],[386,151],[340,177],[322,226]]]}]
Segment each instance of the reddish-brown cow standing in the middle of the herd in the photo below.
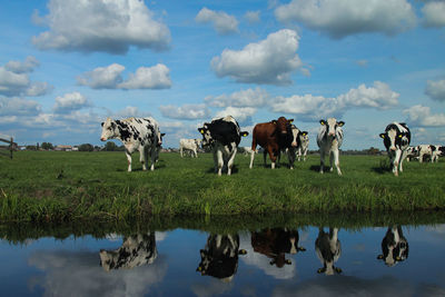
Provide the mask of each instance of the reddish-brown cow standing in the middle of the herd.
[{"label": "reddish-brown cow standing in the middle of the herd", "polygon": [[[289,147],[297,147],[297,143],[293,143],[291,140],[291,122],[294,119],[286,119],[279,117],[277,120],[269,122],[260,122],[254,127],[251,150],[256,151],[257,145],[261,146],[264,151],[264,161],[266,166],[266,154],[269,154],[271,161],[271,169],[275,169],[275,162],[280,155],[283,149]],[[250,154],[249,168],[254,167],[255,154]]]}]

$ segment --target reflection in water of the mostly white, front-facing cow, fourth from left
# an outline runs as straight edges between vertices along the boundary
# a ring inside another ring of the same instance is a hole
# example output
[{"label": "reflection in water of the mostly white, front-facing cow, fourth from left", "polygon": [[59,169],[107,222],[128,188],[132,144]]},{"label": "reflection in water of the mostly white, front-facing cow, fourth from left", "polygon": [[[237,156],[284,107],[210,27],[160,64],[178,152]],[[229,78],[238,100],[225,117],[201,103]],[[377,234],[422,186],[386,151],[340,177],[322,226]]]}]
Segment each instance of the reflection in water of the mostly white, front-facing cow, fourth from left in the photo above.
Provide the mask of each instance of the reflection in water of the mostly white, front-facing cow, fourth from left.
[{"label": "reflection in water of the mostly white, front-facing cow, fourth from left", "polygon": [[339,267],[334,266],[342,255],[338,228],[329,228],[329,232],[319,228],[318,237],[315,240],[315,251],[323,264],[323,267],[317,270],[318,274],[334,275],[342,273]]}]

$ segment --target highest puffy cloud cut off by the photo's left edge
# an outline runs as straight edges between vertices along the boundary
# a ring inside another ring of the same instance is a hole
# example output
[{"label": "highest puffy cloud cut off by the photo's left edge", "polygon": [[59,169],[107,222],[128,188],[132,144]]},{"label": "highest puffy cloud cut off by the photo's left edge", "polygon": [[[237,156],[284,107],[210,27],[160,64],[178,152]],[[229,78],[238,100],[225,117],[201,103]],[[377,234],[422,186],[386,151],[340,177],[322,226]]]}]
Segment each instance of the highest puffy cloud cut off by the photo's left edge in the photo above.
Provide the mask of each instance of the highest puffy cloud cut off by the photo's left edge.
[{"label": "highest puffy cloud cut off by the photo's left edge", "polygon": [[24,62],[9,61],[0,67],[0,95],[14,96],[42,96],[52,90],[47,82],[32,82],[29,72],[39,66],[33,57],[28,57]]}]

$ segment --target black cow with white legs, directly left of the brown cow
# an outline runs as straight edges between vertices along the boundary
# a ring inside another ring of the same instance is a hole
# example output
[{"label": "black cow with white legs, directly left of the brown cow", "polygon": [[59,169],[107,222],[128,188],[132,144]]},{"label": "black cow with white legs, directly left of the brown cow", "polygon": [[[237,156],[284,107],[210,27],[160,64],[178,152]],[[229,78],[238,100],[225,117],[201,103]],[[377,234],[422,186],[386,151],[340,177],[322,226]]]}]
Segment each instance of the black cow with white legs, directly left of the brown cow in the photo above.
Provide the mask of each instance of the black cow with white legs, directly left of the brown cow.
[{"label": "black cow with white legs, directly left of the brown cow", "polygon": [[238,122],[231,116],[205,122],[198,131],[202,135],[202,147],[211,149],[214,154],[215,171],[221,176],[222,166],[227,166],[227,175],[231,175],[235,156],[241,137],[249,135],[240,131]]}]

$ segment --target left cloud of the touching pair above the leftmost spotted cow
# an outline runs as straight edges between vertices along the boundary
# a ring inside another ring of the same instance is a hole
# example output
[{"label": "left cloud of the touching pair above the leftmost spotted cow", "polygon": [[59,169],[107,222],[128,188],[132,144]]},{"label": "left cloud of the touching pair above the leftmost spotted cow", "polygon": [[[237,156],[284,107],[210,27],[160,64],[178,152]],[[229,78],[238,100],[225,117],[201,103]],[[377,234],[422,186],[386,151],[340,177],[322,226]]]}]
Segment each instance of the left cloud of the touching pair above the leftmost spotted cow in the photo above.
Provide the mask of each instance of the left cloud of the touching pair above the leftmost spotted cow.
[{"label": "left cloud of the touching pair above the leftmost spotted cow", "polygon": [[123,70],[125,67],[118,63],[98,67],[78,77],[77,81],[79,85],[89,86],[92,89],[115,89],[118,83],[122,82],[120,73]]}]

